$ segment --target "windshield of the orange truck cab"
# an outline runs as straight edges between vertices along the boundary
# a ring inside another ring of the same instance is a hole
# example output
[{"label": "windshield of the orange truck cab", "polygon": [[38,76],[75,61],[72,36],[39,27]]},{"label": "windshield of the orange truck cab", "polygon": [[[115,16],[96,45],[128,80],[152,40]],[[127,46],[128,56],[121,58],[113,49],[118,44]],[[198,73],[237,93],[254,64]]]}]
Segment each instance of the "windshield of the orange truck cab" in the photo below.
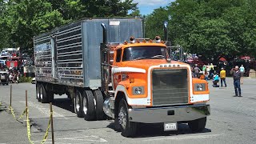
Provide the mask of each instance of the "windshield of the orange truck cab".
[{"label": "windshield of the orange truck cab", "polygon": [[166,58],[164,46],[134,46],[123,51],[122,62],[139,59],[163,59]]}]

